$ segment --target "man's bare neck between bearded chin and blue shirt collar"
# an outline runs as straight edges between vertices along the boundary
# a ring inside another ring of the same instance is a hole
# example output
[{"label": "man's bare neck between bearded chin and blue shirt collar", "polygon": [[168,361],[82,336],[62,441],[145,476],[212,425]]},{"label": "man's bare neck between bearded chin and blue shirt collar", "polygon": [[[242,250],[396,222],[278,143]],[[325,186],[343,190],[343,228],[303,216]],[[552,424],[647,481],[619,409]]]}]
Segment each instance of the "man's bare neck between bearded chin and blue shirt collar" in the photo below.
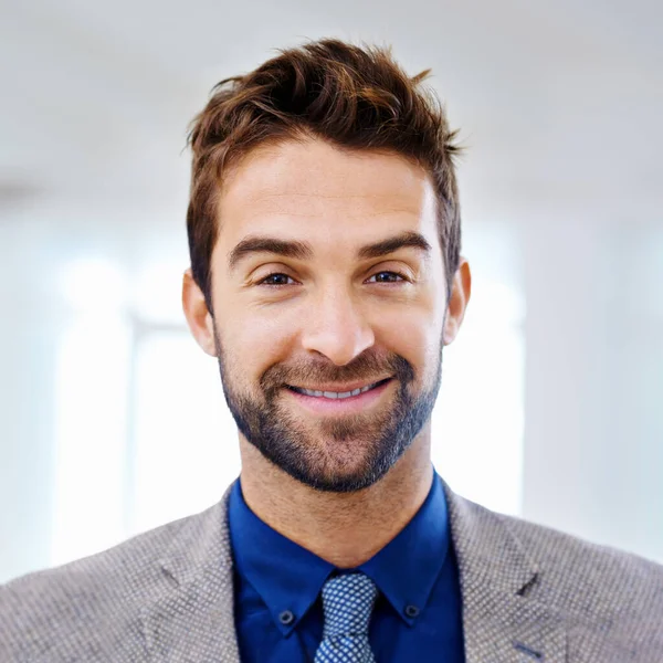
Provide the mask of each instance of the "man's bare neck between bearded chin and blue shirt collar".
[{"label": "man's bare neck between bearded chin and blue shirt collar", "polygon": [[431,487],[430,422],[391,470],[355,493],[320,492],[270,463],[240,435],[242,494],[273,529],[338,568],[355,568],[412,519]]}]

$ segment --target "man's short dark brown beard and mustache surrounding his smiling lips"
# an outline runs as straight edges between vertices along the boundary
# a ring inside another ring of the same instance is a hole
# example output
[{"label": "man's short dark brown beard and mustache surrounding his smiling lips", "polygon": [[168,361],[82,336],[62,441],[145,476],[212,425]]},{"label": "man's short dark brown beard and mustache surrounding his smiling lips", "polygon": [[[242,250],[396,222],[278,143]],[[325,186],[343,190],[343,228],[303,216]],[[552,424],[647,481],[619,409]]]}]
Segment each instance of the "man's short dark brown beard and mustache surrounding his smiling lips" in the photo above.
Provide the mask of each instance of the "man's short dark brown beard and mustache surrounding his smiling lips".
[{"label": "man's short dark brown beard and mustache surrounding his smiling lips", "polygon": [[[214,339],[223,393],[239,431],[270,462],[317,491],[351,493],[385,476],[430,419],[442,380],[440,343],[435,375],[419,393],[414,369],[403,357],[364,352],[343,367],[275,364],[262,375],[254,394],[238,388],[215,328]],[[390,404],[372,407],[370,413],[320,417],[312,427],[283,403],[288,385],[371,383],[385,376],[392,376],[396,394]]]}]

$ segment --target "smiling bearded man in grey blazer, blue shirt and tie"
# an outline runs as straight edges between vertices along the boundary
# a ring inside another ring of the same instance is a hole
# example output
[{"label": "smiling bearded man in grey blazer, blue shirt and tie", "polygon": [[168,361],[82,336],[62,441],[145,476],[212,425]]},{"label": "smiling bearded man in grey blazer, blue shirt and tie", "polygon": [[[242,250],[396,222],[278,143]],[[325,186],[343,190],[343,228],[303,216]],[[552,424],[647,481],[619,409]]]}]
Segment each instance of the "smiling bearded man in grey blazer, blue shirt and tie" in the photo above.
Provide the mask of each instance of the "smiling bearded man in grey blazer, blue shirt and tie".
[{"label": "smiling bearded man in grey blazer, blue shirt and tie", "polygon": [[324,40],[217,87],[190,137],[182,301],[241,476],[6,586],[0,660],[663,661],[661,567],[491,513],[431,465],[471,275],[424,76]]}]

